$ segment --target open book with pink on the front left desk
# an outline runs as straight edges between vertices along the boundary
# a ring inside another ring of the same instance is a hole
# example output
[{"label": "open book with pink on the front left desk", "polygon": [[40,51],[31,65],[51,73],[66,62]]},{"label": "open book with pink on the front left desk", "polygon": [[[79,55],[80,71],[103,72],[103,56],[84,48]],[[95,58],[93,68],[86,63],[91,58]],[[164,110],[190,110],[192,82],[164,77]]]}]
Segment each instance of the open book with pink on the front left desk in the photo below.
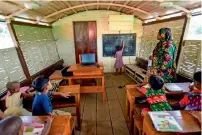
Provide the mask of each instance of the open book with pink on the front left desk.
[{"label": "open book with pink on the front left desk", "polygon": [[44,124],[41,123],[23,123],[23,125],[23,135],[41,135],[44,129]]}]

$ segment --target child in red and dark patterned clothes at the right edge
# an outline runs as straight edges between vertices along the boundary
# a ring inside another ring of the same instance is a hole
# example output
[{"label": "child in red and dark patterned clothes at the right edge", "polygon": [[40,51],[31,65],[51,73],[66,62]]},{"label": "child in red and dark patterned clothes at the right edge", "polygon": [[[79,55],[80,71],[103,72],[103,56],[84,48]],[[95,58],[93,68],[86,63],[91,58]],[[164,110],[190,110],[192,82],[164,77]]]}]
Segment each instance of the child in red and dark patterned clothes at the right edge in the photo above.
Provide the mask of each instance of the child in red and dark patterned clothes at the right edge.
[{"label": "child in red and dark patterned clothes at the right edge", "polygon": [[185,110],[201,110],[201,71],[194,73],[194,86],[197,90],[193,89],[184,95],[180,100],[180,108]]}]

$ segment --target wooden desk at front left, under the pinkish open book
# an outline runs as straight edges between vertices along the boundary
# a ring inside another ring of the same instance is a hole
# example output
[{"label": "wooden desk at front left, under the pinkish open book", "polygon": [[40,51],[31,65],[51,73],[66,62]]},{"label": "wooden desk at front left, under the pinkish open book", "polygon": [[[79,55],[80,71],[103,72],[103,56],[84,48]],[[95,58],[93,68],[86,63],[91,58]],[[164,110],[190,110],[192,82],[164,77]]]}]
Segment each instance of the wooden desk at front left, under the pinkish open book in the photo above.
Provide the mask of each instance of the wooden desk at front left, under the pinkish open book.
[{"label": "wooden desk at front left, under the pinkish open book", "polygon": [[[21,116],[23,123],[38,122],[46,119],[45,116]],[[75,121],[70,115],[55,116],[51,124],[49,135],[73,135],[75,134]]]}]

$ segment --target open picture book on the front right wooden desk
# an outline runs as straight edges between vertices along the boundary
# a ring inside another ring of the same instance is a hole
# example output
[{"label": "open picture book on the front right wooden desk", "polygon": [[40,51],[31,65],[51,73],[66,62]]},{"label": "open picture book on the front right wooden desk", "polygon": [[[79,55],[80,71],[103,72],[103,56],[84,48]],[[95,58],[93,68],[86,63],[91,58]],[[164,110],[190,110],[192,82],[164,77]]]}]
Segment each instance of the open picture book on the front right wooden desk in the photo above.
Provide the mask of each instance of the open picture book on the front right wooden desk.
[{"label": "open picture book on the front right wooden desk", "polygon": [[157,131],[180,132],[183,131],[175,118],[167,112],[149,112],[149,116]]}]

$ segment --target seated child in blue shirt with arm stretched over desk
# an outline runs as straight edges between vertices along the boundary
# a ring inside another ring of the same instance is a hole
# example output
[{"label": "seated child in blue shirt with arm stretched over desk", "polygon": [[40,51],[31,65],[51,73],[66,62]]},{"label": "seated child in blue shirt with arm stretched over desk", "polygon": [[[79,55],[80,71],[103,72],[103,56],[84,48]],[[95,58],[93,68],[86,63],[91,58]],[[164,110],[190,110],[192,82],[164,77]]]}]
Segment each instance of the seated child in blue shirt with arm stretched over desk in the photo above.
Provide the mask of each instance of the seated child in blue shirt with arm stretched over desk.
[{"label": "seated child in blue shirt with arm stretched over desk", "polygon": [[[51,101],[49,99],[49,95],[52,93],[49,91],[52,89],[52,84],[50,83],[48,78],[40,76],[33,81],[32,86],[37,91],[32,104],[32,114],[34,116],[55,114],[71,115],[68,112],[53,110]],[[68,98],[70,96],[69,93],[55,92],[55,94],[65,98]]]}]

